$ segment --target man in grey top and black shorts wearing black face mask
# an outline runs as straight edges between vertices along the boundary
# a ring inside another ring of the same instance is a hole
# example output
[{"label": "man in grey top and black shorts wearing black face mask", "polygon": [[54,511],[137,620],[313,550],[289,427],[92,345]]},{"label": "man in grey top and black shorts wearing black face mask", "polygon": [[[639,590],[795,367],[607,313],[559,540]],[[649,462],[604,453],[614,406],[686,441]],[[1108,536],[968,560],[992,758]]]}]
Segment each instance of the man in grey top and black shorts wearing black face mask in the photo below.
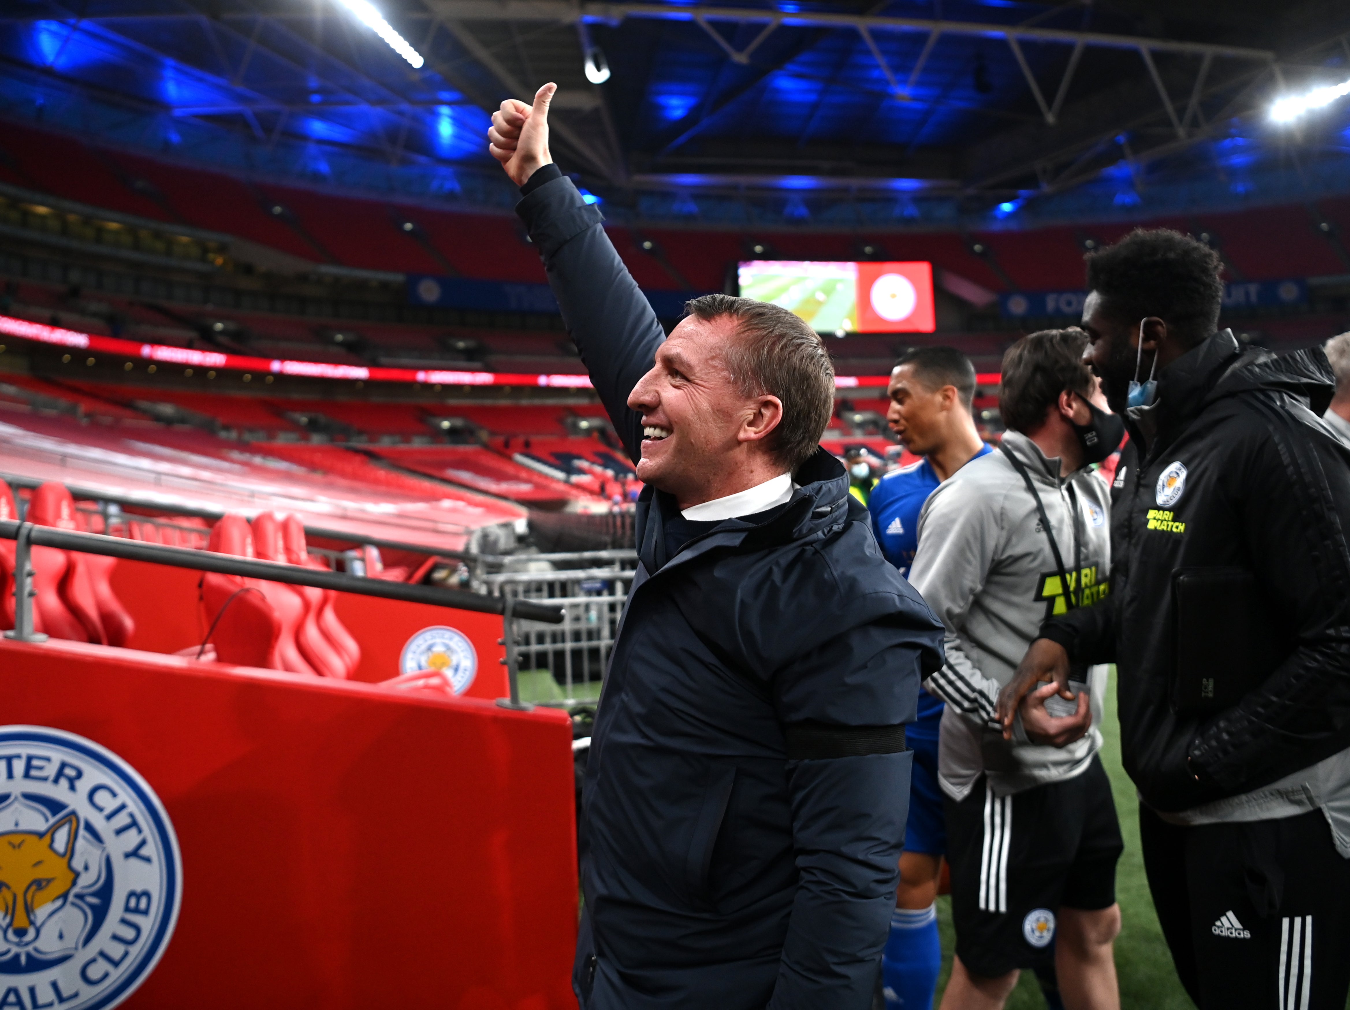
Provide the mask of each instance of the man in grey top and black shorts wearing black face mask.
[{"label": "man in grey top and black shorts wearing black face mask", "polygon": [[[1085,346],[1077,331],[1050,331],[1008,351],[1000,406],[1022,431],[940,485],[919,517],[910,581],[946,628],[946,662],[925,682],[946,701],[938,782],[957,961],[944,1010],[1006,998],[1019,969],[1050,964],[1068,1005],[1119,1006],[1111,941],[1122,843],[1096,758],[1106,667],[1076,672],[1085,691],[1073,702],[1042,690],[1011,739],[995,717],[1041,622],[1110,593],[1110,490],[1087,463],[1115,448],[1123,428],[1098,406],[1106,401],[1080,362]],[[1053,745],[1062,740],[1046,726],[1071,724],[1064,737],[1083,735]]]}]

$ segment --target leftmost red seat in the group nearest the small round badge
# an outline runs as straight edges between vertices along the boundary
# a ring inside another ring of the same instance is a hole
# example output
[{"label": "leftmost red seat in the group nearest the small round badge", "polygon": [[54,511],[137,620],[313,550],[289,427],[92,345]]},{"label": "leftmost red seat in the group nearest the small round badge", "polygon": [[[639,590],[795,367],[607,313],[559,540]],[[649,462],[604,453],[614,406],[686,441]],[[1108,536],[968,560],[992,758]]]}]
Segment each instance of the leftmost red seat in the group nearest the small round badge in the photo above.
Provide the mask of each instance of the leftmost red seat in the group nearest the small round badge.
[{"label": "leftmost red seat in the group nearest the small round badge", "polygon": [[[238,514],[221,516],[211,531],[208,551],[252,558],[252,533],[248,520]],[[208,571],[201,578],[201,602],[215,658],[235,666],[282,670],[277,658],[281,618],[267,600],[258,579]]]}]

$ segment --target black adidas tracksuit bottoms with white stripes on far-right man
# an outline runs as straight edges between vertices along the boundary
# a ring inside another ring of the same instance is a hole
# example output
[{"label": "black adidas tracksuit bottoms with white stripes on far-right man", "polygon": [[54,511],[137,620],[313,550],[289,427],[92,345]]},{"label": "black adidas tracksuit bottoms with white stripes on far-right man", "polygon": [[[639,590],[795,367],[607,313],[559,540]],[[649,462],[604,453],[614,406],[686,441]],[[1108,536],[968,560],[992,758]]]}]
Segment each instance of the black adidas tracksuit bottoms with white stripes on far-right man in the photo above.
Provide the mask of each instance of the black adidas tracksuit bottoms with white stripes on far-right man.
[{"label": "black adidas tracksuit bottoms with white stripes on far-right man", "polygon": [[1320,810],[1181,828],[1139,806],[1149,890],[1200,1010],[1345,1010],[1350,860]]}]

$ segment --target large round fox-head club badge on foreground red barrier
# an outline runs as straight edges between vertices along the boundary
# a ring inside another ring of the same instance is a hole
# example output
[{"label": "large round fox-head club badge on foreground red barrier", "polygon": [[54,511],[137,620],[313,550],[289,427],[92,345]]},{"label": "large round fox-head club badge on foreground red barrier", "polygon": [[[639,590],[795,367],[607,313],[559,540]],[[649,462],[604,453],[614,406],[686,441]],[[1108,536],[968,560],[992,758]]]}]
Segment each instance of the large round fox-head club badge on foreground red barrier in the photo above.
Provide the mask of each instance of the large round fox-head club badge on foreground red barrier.
[{"label": "large round fox-head club badge on foreground red barrier", "polygon": [[47,726],[0,726],[0,1006],[122,1003],[178,921],[163,803],[112,751]]}]

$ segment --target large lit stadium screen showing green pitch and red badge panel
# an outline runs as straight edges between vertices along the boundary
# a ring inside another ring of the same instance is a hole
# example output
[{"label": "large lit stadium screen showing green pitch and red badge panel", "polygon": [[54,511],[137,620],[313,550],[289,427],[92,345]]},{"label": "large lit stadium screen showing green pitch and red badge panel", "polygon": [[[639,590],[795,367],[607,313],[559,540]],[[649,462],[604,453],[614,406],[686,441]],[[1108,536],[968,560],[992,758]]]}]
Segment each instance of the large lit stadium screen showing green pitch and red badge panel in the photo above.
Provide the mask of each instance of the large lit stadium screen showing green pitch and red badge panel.
[{"label": "large lit stadium screen showing green pitch and red badge panel", "polygon": [[932,334],[933,265],[751,259],[740,263],[741,297],[771,301],[818,334]]}]

